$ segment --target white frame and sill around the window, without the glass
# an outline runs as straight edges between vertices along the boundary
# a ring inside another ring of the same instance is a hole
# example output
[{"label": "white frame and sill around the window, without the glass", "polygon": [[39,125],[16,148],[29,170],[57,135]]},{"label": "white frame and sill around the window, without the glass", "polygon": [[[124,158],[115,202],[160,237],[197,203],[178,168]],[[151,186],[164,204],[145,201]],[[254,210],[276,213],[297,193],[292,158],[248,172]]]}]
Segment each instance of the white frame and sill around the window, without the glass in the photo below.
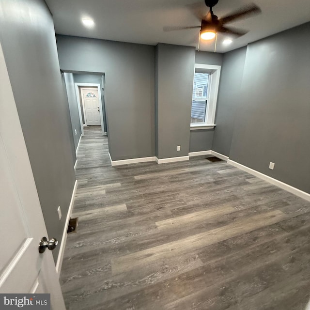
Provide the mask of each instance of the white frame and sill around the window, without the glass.
[{"label": "white frame and sill around the window, without the glass", "polygon": [[[203,123],[190,123],[190,129],[211,129],[216,126],[215,113],[217,109],[217,94],[219,86],[219,77],[221,66],[213,64],[195,63],[195,73],[208,73],[208,93],[207,93],[207,109],[205,113],[205,121]],[[200,99],[198,99],[200,100]],[[203,99],[205,100],[205,99]]]}]

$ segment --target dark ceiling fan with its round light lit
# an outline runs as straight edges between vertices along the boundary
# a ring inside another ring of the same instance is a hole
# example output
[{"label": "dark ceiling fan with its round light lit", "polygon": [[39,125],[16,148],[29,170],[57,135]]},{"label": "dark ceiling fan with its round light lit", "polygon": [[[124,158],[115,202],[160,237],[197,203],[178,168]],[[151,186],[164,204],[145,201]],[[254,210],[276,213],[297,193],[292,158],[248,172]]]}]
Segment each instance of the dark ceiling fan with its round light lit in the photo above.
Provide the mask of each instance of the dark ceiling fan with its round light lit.
[{"label": "dark ceiling fan with its round light lit", "polygon": [[202,18],[200,26],[188,26],[188,27],[164,27],[164,31],[174,31],[174,30],[184,30],[200,28],[200,38],[203,40],[213,39],[217,32],[223,32],[227,34],[233,34],[236,36],[241,36],[246,34],[248,31],[238,30],[233,28],[228,28],[224,26],[225,24],[231,23],[237,19],[248,18],[251,15],[261,13],[261,9],[254,3],[248,4],[233,13],[218,18],[214,13],[212,8],[217,4],[218,0],[204,0],[205,5],[210,8],[208,14]]}]

